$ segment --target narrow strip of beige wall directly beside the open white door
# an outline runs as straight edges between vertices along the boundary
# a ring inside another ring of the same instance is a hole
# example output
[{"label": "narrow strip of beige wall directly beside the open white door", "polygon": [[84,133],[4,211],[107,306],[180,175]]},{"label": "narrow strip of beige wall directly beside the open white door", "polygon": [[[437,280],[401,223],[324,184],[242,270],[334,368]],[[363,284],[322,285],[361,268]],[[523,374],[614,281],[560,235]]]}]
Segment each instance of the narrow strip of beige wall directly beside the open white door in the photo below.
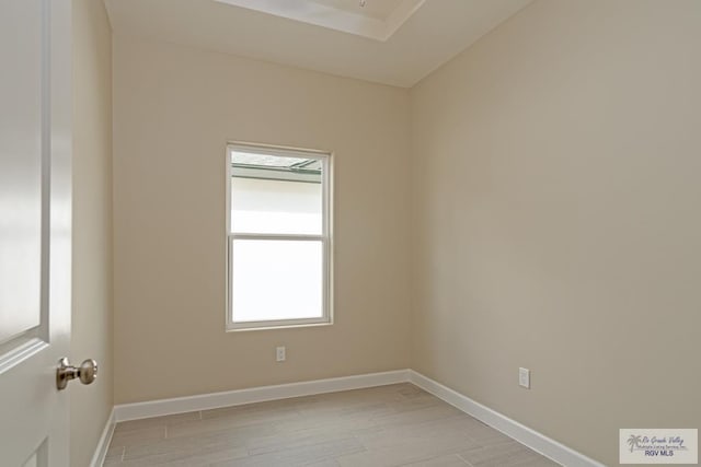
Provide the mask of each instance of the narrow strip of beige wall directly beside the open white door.
[{"label": "narrow strip of beige wall directly beside the open white door", "polygon": [[87,466],[112,411],[112,31],[102,1],[73,1],[71,360],[100,364],[70,387],[71,466]]}]

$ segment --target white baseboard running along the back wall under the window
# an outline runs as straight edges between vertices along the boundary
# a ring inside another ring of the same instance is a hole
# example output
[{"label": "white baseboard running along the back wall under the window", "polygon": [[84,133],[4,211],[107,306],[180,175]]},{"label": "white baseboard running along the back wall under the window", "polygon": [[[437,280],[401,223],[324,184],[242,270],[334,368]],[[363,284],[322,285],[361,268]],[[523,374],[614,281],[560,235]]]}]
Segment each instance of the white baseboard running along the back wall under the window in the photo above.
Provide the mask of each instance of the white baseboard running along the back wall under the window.
[{"label": "white baseboard running along the back wall under the window", "polygon": [[361,389],[409,382],[409,370],[383,373],[369,373],[355,376],[333,377],[276,386],[252,387],[225,393],[203,394],[173,399],[151,400],[147,402],[123,404],[115,406],[115,421],[138,420],[196,410],[217,409],[243,404],[264,402],[266,400],[288,399],[290,397],[314,394],[337,393],[340,390]]}]

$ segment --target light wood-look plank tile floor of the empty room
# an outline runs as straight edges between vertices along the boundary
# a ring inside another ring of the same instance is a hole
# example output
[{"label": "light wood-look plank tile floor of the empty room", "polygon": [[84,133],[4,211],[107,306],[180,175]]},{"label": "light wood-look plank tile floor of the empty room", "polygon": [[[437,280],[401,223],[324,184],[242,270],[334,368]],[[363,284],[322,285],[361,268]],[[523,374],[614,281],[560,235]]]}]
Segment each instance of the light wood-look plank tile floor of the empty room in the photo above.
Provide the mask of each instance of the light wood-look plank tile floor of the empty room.
[{"label": "light wood-look plank tile floor of the empty room", "polygon": [[105,467],[550,467],[411,384],[118,423]]}]

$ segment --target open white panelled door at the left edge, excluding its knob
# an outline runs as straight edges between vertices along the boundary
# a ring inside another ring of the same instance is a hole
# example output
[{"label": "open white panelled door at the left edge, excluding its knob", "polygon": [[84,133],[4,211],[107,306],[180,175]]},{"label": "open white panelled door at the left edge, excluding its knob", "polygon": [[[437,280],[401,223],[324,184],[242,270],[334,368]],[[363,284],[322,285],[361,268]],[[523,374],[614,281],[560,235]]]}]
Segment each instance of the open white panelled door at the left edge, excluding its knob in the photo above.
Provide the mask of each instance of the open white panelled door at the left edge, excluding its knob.
[{"label": "open white panelled door at the left edge, excluding its knob", "polygon": [[0,465],[68,466],[70,0],[0,0]]}]

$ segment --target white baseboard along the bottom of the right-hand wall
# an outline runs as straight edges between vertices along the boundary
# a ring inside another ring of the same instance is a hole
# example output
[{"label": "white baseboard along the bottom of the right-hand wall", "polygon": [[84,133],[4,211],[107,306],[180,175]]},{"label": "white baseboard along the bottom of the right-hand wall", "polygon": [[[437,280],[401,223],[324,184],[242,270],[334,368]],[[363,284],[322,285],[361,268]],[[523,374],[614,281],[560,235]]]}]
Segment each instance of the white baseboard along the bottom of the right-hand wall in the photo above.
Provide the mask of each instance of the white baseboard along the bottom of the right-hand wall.
[{"label": "white baseboard along the bottom of the right-hand wall", "polygon": [[516,420],[490,409],[462,394],[435,382],[413,370],[409,371],[409,381],[451,406],[501,431],[525,446],[566,467],[606,467],[604,464],[581,454],[542,433],[532,430]]}]

